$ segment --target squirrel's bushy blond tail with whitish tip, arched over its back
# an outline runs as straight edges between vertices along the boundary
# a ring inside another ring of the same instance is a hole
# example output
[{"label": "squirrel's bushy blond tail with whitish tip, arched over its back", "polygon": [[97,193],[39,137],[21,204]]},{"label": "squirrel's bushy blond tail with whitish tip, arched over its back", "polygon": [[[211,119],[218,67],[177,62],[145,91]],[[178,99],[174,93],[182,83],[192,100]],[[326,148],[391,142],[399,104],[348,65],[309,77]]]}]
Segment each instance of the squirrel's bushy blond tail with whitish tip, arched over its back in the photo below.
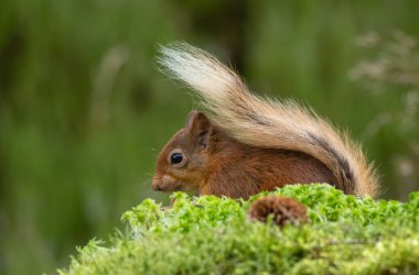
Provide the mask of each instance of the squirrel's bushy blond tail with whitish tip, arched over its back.
[{"label": "squirrel's bushy blond tail with whitish tip, arched over its back", "polygon": [[161,47],[159,64],[195,90],[212,120],[238,141],[303,152],[332,170],[345,193],[377,196],[376,172],[361,147],[312,110],[250,94],[235,72],[189,44]]}]

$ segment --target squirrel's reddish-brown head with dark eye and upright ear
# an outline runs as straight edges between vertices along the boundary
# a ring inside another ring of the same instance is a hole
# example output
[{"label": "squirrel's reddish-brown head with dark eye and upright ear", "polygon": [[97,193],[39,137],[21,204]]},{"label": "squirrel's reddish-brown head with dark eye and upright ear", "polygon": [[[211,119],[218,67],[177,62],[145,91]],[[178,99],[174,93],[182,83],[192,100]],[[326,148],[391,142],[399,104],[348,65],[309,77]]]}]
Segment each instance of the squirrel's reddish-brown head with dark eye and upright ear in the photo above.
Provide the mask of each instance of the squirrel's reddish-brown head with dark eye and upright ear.
[{"label": "squirrel's reddish-brown head with dark eye and upright ear", "polygon": [[194,191],[204,182],[214,127],[203,113],[191,111],[185,127],[164,145],[158,157],[152,188]]}]

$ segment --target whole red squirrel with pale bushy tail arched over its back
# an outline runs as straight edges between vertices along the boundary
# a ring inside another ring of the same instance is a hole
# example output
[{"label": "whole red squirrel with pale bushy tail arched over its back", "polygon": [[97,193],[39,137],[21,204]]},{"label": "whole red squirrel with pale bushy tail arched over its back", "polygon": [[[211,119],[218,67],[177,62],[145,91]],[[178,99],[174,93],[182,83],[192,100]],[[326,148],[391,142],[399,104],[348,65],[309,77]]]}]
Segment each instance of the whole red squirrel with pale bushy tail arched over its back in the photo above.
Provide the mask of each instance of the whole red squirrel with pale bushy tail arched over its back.
[{"label": "whole red squirrel with pale bushy tail arched over its back", "polygon": [[264,99],[211,54],[181,43],[161,47],[159,64],[201,97],[162,148],[152,188],[248,198],[289,184],[327,183],[377,196],[378,180],[347,134],[294,101]]}]

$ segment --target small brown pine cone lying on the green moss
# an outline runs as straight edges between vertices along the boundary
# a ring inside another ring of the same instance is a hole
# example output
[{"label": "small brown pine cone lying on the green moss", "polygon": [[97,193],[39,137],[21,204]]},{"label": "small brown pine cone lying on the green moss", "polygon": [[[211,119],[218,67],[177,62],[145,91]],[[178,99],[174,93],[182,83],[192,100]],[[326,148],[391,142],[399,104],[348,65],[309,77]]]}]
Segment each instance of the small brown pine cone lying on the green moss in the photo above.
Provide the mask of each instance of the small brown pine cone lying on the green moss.
[{"label": "small brown pine cone lying on the green moss", "polygon": [[286,223],[298,226],[309,221],[305,206],[287,197],[260,197],[251,204],[247,211],[249,220],[262,222],[267,221],[269,215],[273,216],[273,222],[280,228]]}]

